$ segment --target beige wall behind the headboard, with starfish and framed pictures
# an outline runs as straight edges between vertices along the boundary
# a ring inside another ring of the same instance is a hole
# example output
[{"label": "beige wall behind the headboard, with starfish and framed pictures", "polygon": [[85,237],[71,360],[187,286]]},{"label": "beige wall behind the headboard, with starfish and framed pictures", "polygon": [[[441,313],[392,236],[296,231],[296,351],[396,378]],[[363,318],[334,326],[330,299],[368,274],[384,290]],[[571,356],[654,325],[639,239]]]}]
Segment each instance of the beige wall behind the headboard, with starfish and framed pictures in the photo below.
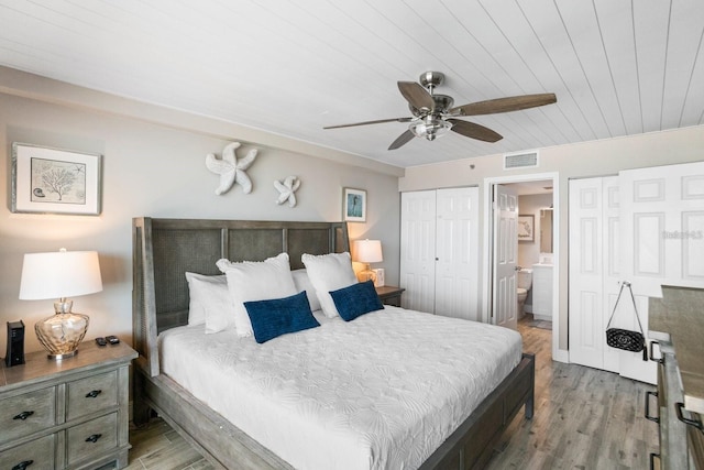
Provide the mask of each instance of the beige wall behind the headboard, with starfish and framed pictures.
[{"label": "beige wall behind the headboard, with starfish and framed pictures", "polygon": [[[7,91],[3,72],[0,69],[0,90]],[[23,319],[28,351],[42,349],[33,328],[37,320],[53,314],[53,300],[18,299],[23,254],[62,247],[97,250],[100,256],[103,292],[74,298],[74,309],[90,316],[87,338],[114,334],[131,342],[131,222],[135,216],[336,221],[341,220],[342,187],[363,188],[367,190],[367,222],[350,223],[350,236],[381,239],[384,262],[374,267],[386,269],[387,284],[398,283],[397,168],[375,166],[353,155],[346,159],[351,164],[344,164],[339,152],[326,149],[311,152],[330,153],[338,161],[274,147],[268,144],[285,140],[274,135],[270,142],[265,133],[256,131],[251,134],[261,140],[244,143],[240,150],[243,155],[252,146],[260,149],[248,171],[253,192],[245,195],[234,186],[226,195],[216,196],[218,175],[206,168],[205,156],[209,152],[220,154],[231,141],[244,142],[241,135],[248,133],[246,129],[147,106],[140,107],[141,118],[128,112],[119,116],[117,112],[134,103],[73,87],[72,92],[87,99],[69,99],[63,92],[65,84],[41,83],[41,92],[12,84],[11,94],[0,94],[0,192],[7,196],[0,209],[0,325],[4,330],[6,321]],[[99,109],[103,101],[117,103],[117,108]],[[193,129],[188,129],[188,122],[194,123]],[[12,142],[102,154],[102,214],[12,214]],[[296,147],[296,143],[286,145]],[[312,149],[305,143],[298,147]],[[273,182],[288,175],[297,175],[302,182],[295,208],[275,204],[278,193]],[[3,331],[0,356],[4,356],[6,339]]]}]

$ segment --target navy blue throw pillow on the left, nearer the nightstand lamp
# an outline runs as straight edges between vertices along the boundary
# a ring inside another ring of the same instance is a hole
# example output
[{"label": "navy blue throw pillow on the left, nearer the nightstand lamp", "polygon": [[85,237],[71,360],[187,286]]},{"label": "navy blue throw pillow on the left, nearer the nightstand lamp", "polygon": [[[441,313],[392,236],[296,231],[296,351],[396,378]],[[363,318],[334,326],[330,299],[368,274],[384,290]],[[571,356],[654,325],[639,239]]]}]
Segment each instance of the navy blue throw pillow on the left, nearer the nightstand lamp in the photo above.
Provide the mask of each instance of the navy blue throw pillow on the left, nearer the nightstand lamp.
[{"label": "navy blue throw pillow on the left, nearer the nightstand lamp", "polygon": [[287,332],[319,327],[310,311],[306,291],[284,298],[245,302],[254,339],[260,345]]}]

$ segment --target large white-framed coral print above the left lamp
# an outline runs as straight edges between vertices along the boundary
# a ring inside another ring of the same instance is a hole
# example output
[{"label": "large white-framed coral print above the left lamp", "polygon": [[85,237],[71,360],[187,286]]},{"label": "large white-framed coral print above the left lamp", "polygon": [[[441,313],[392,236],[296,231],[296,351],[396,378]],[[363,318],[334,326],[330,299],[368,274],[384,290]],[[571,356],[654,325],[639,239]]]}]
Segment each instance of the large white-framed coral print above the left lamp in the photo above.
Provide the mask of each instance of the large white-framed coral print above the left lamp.
[{"label": "large white-framed coral print above the left lamp", "polygon": [[100,215],[102,155],[12,143],[12,212]]}]

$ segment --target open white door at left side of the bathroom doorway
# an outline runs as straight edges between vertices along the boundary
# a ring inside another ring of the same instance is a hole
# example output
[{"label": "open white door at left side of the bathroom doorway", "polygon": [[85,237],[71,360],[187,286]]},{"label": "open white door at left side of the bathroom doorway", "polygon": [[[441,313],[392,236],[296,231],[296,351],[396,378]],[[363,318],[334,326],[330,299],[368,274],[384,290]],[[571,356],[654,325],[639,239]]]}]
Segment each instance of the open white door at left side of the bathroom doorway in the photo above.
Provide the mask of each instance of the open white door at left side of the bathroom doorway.
[{"label": "open white door at left side of the bathroom doorway", "polygon": [[494,249],[492,315],[494,324],[517,329],[516,269],[518,263],[518,194],[494,185]]}]

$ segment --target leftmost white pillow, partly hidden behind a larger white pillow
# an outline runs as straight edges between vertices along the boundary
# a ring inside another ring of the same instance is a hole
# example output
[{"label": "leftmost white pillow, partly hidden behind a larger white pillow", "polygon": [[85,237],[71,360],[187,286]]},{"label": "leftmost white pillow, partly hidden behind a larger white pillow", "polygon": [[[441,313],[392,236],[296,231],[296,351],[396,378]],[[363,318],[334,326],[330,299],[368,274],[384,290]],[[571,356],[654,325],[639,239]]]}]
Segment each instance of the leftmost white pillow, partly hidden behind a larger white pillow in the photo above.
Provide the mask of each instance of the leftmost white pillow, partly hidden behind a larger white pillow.
[{"label": "leftmost white pillow, partly hidden behind a larger white pillow", "polygon": [[188,325],[202,325],[208,313],[211,315],[232,315],[232,300],[228,292],[228,280],[224,274],[207,276],[186,272],[188,282]]}]

